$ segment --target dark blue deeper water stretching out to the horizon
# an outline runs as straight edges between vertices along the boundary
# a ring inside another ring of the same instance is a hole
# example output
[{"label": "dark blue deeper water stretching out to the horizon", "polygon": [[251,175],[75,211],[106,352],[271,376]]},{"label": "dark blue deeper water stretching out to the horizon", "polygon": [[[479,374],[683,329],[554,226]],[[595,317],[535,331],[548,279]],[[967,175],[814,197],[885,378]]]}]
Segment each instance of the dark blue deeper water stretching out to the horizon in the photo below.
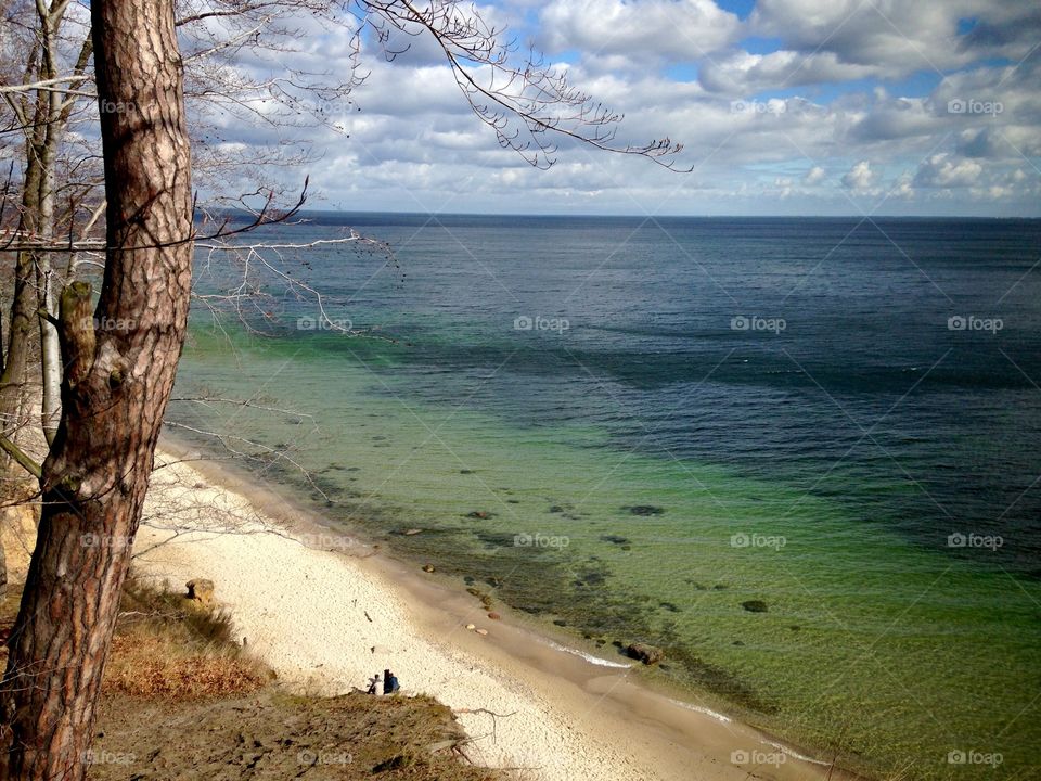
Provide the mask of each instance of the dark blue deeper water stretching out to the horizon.
[{"label": "dark blue deeper water stretching out to the horizon", "polygon": [[[299,271],[334,316],[411,343],[395,371],[426,400],[782,479],[915,543],[1000,535],[995,562],[1041,574],[1038,221],[311,219],[284,235],[390,245]],[[784,330],[733,328],[757,317]]]}]

